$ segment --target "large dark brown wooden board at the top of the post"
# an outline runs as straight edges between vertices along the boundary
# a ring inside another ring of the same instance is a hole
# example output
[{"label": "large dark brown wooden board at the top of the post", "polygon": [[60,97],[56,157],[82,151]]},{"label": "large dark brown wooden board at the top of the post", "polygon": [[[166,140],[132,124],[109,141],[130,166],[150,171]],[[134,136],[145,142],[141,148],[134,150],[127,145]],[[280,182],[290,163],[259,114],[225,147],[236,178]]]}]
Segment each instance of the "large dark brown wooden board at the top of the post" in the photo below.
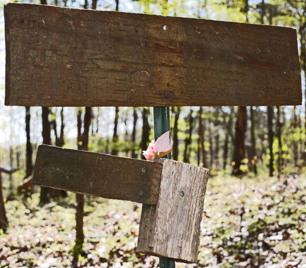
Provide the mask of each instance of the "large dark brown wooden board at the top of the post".
[{"label": "large dark brown wooden board at the top of the post", "polygon": [[294,29],[30,4],[4,13],[6,105],[301,104]]}]

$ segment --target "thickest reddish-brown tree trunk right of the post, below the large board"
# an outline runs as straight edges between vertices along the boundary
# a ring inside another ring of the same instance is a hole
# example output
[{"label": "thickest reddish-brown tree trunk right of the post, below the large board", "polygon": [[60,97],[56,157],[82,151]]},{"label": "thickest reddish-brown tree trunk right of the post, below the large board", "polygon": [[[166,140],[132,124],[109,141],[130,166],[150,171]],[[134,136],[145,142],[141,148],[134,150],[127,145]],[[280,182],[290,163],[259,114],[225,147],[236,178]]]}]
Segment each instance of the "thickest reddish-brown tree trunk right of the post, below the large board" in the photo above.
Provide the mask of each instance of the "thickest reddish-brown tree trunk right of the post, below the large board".
[{"label": "thickest reddish-brown tree trunk right of the post, below the large board", "polygon": [[242,160],[244,159],[244,141],[246,131],[246,107],[239,106],[237,111],[235,147],[234,147],[234,167],[233,175],[241,175],[243,172],[240,169]]}]

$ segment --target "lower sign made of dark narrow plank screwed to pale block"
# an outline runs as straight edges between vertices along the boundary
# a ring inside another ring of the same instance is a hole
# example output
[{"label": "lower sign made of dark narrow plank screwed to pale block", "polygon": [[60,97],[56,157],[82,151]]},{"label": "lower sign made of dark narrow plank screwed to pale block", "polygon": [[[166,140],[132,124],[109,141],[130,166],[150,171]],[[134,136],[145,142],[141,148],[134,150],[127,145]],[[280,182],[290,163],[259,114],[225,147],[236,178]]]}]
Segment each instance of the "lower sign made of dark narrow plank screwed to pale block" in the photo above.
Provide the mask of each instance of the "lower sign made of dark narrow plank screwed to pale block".
[{"label": "lower sign made of dark narrow plank screwed to pale block", "polygon": [[208,169],[40,145],[33,184],[143,203],[137,250],[197,262]]}]

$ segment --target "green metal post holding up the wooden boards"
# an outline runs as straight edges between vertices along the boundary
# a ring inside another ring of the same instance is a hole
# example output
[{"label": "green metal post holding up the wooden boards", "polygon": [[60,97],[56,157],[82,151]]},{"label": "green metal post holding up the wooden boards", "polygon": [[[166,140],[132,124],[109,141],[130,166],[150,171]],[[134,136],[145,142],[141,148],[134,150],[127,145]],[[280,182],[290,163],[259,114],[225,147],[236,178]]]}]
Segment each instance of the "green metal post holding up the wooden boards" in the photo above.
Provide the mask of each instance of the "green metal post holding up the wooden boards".
[{"label": "green metal post holding up the wooden boards", "polygon": [[[170,130],[169,107],[154,107],[154,139],[157,140],[168,130]],[[171,153],[165,155],[164,158],[171,159]],[[160,267],[175,268],[175,262],[160,258]]]}]

